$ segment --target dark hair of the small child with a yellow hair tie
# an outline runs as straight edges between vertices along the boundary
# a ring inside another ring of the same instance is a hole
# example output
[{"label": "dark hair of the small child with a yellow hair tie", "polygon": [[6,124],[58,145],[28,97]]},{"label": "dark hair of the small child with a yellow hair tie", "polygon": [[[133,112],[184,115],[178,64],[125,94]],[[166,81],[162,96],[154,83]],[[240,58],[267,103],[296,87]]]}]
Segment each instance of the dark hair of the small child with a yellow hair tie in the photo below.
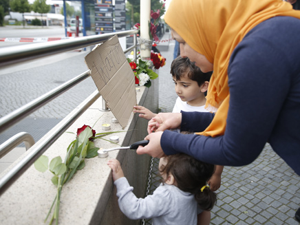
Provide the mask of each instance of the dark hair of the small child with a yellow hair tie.
[{"label": "dark hair of the small child with a yellow hair tie", "polygon": [[167,177],[172,174],[178,189],[194,194],[202,210],[211,210],[217,202],[217,195],[208,187],[201,189],[213,175],[215,165],[201,162],[184,153],[167,156],[167,160],[167,164],[159,168],[160,173]]}]

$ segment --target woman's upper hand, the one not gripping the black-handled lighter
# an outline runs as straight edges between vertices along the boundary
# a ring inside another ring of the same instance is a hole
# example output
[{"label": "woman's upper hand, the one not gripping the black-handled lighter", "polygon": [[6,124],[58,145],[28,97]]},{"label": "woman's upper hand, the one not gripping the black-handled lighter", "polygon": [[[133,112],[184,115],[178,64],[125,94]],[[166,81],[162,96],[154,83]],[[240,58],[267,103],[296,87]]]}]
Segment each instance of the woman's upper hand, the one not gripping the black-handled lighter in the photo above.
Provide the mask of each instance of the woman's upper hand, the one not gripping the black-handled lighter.
[{"label": "woman's upper hand, the one not gripping the black-handled lighter", "polygon": [[166,129],[177,129],[181,125],[182,115],[180,113],[160,113],[148,122],[148,133],[153,131],[164,131]]}]

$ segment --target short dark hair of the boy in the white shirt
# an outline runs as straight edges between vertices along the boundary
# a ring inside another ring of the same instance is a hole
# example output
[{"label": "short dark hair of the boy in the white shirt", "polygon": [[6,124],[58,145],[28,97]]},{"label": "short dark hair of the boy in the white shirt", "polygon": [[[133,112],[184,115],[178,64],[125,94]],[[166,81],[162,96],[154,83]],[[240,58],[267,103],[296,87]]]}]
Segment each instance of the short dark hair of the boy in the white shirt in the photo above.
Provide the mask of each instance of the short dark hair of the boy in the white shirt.
[{"label": "short dark hair of the boy in the white shirt", "polygon": [[209,81],[211,79],[211,74],[213,74],[213,72],[202,72],[195,63],[192,63],[189,60],[189,58],[182,58],[181,56],[175,58],[171,63],[170,73],[176,81],[180,81],[180,78],[187,74],[192,81],[197,81],[199,87],[205,81]]}]

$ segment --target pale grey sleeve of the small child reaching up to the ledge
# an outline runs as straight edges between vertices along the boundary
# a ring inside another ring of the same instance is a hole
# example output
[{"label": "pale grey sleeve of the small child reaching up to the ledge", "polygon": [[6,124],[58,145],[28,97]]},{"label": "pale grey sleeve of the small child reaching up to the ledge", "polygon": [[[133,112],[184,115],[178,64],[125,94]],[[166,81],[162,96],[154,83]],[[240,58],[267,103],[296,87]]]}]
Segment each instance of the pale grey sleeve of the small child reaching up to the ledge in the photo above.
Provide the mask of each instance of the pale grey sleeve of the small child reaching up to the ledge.
[{"label": "pale grey sleeve of the small child reaching up to the ledge", "polygon": [[153,218],[169,212],[169,200],[172,199],[168,189],[160,186],[153,195],[138,198],[133,194],[133,187],[126,178],[120,178],[114,182],[117,188],[117,197],[120,210],[129,219]]}]

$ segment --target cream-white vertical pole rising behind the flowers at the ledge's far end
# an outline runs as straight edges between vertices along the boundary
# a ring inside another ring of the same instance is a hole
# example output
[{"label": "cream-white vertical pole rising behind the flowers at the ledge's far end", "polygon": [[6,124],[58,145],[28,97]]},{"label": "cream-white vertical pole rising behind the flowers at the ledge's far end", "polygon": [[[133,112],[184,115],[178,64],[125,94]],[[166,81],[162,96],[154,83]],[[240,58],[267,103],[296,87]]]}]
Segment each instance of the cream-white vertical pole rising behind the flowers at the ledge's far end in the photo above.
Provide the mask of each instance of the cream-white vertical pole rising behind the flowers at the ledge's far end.
[{"label": "cream-white vertical pole rising behind the flowers at the ledge's far end", "polygon": [[[151,1],[140,0],[140,39],[149,40],[149,22],[151,12]],[[144,59],[150,59],[151,50],[145,49],[144,43],[140,44],[140,56]]]}]

